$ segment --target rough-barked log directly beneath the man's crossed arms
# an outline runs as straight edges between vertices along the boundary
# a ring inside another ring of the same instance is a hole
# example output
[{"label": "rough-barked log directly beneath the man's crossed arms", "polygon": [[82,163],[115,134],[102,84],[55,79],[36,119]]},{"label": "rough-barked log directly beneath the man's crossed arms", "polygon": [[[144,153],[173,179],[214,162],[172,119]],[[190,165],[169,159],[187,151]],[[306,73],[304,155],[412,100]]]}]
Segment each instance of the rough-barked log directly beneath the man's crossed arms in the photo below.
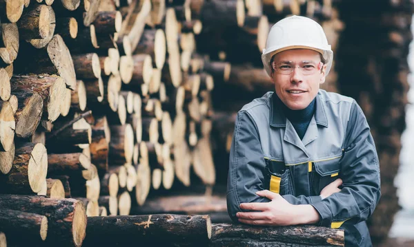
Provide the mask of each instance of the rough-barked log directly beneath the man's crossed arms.
[{"label": "rough-barked log directly beneath the man's crossed arms", "polygon": [[213,224],[213,246],[344,246],[344,230],[315,226],[255,227],[236,224]]}]

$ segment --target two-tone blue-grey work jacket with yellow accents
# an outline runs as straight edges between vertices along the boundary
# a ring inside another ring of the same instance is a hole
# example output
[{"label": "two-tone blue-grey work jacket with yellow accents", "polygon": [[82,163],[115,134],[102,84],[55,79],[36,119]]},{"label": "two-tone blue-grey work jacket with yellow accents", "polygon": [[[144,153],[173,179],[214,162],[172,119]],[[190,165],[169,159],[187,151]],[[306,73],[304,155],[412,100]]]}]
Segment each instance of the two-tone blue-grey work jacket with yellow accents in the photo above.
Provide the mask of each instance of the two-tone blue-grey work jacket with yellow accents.
[{"label": "two-tone blue-grey work jacket with yellow accents", "polygon": [[[366,219],[380,200],[380,167],[370,128],[353,98],[319,89],[302,140],[284,116],[277,94],[245,105],[235,122],[228,171],[228,214],[237,222],[243,202],[269,202],[268,189],[290,204],[311,204],[317,226],[345,230],[345,246],[371,246]],[[322,200],[324,187],[343,180]]]}]

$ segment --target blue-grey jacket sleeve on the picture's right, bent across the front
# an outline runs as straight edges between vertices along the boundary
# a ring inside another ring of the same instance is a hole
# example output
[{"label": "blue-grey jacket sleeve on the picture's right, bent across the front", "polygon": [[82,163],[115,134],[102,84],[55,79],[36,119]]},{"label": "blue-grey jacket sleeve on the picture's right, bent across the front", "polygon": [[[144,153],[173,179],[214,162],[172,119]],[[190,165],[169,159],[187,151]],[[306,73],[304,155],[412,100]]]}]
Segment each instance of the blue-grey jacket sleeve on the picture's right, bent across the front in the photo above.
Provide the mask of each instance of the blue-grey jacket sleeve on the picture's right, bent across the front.
[{"label": "blue-grey jacket sleeve on the picture's right, bent across the front", "polygon": [[354,100],[346,127],[340,178],[342,189],[311,204],[319,213],[319,226],[333,222],[356,224],[366,220],[380,200],[380,166],[373,137],[362,109]]}]

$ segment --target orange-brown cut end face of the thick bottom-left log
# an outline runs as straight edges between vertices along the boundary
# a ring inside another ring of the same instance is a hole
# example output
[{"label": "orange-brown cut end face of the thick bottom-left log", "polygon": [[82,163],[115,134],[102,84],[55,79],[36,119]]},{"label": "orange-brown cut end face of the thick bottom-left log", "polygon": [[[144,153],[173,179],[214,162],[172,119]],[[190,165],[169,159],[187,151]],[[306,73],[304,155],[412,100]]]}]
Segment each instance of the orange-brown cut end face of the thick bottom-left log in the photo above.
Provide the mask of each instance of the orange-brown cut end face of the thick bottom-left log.
[{"label": "orange-brown cut end face of the thick bottom-left log", "polygon": [[83,239],[85,239],[86,236],[86,222],[88,221],[83,202],[79,201],[79,203],[76,204],[72,220],[73,242],[75,243],[75,246],[81,246]]}]

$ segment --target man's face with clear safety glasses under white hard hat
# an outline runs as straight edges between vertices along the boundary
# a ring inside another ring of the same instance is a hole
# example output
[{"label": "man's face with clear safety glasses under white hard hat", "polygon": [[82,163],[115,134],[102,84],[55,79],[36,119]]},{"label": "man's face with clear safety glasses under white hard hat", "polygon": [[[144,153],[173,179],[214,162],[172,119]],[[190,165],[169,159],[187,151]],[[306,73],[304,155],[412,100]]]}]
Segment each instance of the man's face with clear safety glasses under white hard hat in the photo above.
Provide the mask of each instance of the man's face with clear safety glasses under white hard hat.
[{"label": "man's face with clear safety glasses under white hard hat", "polygon": [[316,97],[319,84],[325,82],[326,65],[320,61],[318,52],[306,49],[286,50],[275,55],[276,70],[272,72],[275,92],[289,109],[305,109]]}]

